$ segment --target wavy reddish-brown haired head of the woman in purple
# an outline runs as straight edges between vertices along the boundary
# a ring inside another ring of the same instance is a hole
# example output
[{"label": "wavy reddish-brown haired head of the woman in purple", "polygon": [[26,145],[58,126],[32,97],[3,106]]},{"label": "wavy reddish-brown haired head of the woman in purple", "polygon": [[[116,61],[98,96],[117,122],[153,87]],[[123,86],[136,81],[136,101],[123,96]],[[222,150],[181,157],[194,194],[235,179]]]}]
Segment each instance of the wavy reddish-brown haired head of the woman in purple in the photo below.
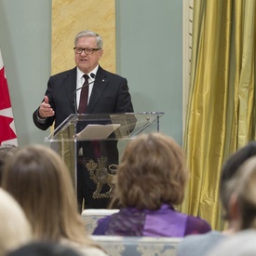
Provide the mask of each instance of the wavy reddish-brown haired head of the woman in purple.
[{"label": "wavy reddish-brown haired head of the woman in purple", "polygon": [[159,209],[182,203],[188,171],[181,146],[162,133],[141,134],[130,141],[115,182],[124,208]]}]

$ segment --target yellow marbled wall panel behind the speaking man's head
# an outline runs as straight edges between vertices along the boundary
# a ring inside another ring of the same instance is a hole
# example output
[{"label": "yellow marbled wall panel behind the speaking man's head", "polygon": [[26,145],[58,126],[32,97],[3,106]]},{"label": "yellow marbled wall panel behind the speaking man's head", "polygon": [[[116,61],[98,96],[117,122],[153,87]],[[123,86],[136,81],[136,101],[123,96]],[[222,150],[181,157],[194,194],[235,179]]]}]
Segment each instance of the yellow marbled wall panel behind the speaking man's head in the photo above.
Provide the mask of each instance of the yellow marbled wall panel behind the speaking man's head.
[{"label": "yellow marbled wall panel behind the speaking man's head", "polygon": [[51,74],[74,67],[74,36],[85,29],[101,34],[101,66],[115,72],[115,0],[52,0]]}]

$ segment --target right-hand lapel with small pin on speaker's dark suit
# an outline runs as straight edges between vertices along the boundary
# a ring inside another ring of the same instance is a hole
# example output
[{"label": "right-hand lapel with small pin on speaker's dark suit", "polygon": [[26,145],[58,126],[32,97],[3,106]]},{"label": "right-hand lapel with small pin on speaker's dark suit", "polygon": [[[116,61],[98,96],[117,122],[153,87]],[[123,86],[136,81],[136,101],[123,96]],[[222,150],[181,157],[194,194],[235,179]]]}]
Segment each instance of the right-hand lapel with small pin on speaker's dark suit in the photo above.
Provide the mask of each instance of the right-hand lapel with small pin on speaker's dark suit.
[{"label": "right-hand lapel with small pin on speaker's dark suit", "polygon": [[86,113],[92,113],[94,106],[101,99],[101,95],[108,84],[107,74],[101,68],[98,69],[93,89],[89,98],[88,108]]}]

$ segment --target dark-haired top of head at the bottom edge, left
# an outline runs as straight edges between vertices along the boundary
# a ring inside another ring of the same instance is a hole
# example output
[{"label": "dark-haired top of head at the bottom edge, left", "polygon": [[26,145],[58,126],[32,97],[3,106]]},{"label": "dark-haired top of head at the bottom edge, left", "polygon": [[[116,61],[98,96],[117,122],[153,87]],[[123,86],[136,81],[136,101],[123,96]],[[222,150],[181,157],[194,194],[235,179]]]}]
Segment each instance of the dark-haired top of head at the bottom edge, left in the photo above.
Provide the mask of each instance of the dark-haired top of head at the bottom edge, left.
[{"label": "dark-haired top of head at the bottom edge, left", "polygon": [[53,242],[32,242],[10,251],[7,256],[79,256],[74,249]]}]

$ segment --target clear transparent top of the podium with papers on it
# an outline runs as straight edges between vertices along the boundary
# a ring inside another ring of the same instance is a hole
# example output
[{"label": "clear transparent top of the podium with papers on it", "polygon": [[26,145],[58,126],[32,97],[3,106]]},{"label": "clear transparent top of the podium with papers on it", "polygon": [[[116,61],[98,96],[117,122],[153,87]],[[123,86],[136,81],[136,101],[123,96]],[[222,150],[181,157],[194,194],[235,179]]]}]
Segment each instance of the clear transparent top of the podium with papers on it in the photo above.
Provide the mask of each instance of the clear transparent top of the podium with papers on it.
[{"label": "clear transparent top of the podium with papers on it", "polygon": [[164,112],[69,115],[46,141],[130,140],[159,131]]}]

